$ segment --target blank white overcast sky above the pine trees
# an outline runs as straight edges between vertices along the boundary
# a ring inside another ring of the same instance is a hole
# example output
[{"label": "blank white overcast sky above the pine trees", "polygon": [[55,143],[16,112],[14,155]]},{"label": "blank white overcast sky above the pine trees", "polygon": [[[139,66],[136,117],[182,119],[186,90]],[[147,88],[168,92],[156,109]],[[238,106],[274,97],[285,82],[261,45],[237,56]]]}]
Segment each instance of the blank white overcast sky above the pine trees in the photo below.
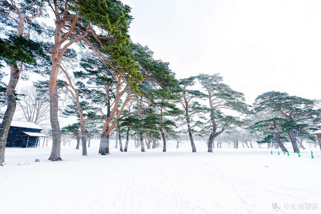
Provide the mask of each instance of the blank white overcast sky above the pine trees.
[{"label": "blank white overcast sky above the pine trees", "polygon": [[176,77],[220,73],[246,102],[267,91],[321,99],[320,0],[122,0],[129,34]]}]

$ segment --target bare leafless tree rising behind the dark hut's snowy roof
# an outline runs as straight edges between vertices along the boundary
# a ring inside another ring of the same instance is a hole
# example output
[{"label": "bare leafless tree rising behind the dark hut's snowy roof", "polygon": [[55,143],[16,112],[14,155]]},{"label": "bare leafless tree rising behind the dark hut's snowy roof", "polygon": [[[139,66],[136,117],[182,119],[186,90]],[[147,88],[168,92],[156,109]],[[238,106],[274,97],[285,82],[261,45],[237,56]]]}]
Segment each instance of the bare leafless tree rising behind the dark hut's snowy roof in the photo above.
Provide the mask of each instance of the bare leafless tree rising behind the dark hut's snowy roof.
[{"label": "bare leafless tree rising behind the dark hut's snowy roof", "polygon": [[19,119],[26,119],[35,124],[47,125],[49,123],[49,93],[34,86],[25,86],[20,90],[24,96],[17,100],[18,111],[22,111]]}]

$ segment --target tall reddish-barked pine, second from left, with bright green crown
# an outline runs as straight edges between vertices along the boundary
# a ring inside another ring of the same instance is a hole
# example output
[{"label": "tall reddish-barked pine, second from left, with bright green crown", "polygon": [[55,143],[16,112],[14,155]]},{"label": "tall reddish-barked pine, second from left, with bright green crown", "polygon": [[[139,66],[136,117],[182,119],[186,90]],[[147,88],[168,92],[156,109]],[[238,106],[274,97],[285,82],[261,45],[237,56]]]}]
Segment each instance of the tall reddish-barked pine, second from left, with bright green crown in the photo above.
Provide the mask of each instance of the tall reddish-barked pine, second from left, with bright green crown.
[{"label": "tall reddish-barked pine, second from left, with bright green crown", "polygon": [[117,0],[48,0],[48,4],[56,25],[49,81],[53,137],[49,160],[56,161],[62,160],[56,80],[66,49],[78,42],[82,47],[90,47],[112,69],[123,67],[129,62],[124,48],[129,44],[127,29],[131,16],[130,7]]}]

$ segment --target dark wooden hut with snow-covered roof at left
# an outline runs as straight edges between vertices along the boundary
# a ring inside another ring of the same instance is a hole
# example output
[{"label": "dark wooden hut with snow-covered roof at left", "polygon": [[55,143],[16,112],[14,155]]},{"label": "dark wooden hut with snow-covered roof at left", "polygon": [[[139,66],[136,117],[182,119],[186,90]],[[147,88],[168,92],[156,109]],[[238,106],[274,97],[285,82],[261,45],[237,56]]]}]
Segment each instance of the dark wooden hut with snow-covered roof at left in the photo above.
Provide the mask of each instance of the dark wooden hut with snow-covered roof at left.
[{"label": "dark wooden hut with snow-covered roof at left", "polygon": [[12,120],[8,132],[6,147],[36,147],[40,137],[46,138],[40,133],[42,128],[32,122]]}]

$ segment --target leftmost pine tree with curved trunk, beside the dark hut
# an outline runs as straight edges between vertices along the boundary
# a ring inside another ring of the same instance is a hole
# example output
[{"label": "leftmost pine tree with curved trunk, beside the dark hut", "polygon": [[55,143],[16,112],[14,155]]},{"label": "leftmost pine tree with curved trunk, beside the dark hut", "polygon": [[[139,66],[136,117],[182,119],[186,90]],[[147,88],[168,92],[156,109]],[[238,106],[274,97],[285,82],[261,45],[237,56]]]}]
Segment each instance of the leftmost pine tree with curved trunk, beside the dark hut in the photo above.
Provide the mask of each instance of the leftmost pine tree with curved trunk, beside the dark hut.
[{"label": "leftmost pine tree with curved trunk, beside the dark hut", "polygon": [[[0,21],[2,24],[13,28],[13,30],[6,31],[9,35],[8,39],[5,39],[7,46],[4,46],[6,50],[11,46],[12,49],[9,49],[9,51],[12,53],[5,54],[5,51],[3,57],[6,64],[10,66],[10,80],[5,90],[7,109],[0,126],[0,166],[2,166],[4,162],[5,143],[16,109],[15,88],[20,73],[23,69],[26,69],[28,64],[31,65],[31,69],[34,67],[38,68],[36,59],[40,58],[40,56],[45,56],[42,52],[41,43],[31,40],[32,38],[30,37],[30,35],[32,36],[34,33],[41,34],[39,25],[37,25],[33,19],[42,15],[43,8],[43,1],[0,1],[0,14],[2,16]],[[4,31],[5,30],[2,29],[2,32]],[[4,88],[1,89],[4,90]]]}]

